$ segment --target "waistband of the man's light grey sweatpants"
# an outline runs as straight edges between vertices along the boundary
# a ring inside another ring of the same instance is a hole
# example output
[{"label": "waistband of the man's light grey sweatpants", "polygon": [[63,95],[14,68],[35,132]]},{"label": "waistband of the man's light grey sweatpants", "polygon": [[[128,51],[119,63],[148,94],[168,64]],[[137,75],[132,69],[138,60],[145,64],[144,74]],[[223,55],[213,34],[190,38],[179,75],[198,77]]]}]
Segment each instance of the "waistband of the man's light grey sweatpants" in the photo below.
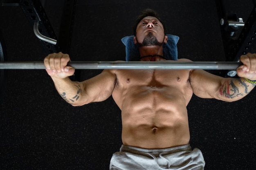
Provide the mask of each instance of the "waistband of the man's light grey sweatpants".
[{"label": "waistband of the man's light grey sweatpants", "polygon": [[145,148],[137,148],[134,146],[127,146],[127,145],[122,145],[120,148],[120,152],[130,152],[134,154],[140,154],[142,153],[151,153],[153,155],[159,155],[160,153],[166,153],[166,154],[171,154],[175,152],[180,152],[180,151],[191,151],[191,146],[190,144],[182,145],[182,146],[175,146],[171,148],[161,148],[161,149],[145,149]]}]

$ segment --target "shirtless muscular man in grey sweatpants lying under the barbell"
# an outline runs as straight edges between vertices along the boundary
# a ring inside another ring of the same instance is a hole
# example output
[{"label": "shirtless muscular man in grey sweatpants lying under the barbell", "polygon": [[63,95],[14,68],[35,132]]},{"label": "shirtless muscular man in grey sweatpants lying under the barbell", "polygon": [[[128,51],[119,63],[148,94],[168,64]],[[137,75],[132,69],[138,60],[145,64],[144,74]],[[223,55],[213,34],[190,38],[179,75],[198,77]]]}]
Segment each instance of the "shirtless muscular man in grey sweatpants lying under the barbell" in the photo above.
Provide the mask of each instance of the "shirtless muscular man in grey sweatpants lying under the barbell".
[{"label": "shirtless muscular man in grey sweatpants lying under the barbell", "polygon": [[[144,11],[135,26],[140,61],[166,61],[167,36],[153,10]],[[203,70],[104,70],[83,82],[68,76],[70,57],[54,53],[45,57],[47,73],[59,94],[73,106],[100,102],[112,95],[121,109],[122,142],[110,163],[111,170],[204,169],[199,149],[189,146],[186,106],[192,94],[233,102],[245,97],[256,84],[256,54],[242,55],[240,78],[222,78]],[[188,59],[178,61],[191,62]]]}]

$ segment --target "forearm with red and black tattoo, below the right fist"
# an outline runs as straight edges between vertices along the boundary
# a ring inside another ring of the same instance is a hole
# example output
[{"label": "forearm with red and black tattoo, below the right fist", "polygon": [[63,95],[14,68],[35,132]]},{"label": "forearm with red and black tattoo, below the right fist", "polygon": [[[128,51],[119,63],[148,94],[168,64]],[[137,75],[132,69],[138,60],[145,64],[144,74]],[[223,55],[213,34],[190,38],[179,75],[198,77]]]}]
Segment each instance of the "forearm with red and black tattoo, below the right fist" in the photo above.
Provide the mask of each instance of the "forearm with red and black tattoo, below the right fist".
[{"label": "forearm with red and black tattoo, below the right fist", "polygon": [[226,78],[222,81],[219,89],[221,99],[227,102],[233,102],[245,97],[256,84],[248,82],[245,78]]}]

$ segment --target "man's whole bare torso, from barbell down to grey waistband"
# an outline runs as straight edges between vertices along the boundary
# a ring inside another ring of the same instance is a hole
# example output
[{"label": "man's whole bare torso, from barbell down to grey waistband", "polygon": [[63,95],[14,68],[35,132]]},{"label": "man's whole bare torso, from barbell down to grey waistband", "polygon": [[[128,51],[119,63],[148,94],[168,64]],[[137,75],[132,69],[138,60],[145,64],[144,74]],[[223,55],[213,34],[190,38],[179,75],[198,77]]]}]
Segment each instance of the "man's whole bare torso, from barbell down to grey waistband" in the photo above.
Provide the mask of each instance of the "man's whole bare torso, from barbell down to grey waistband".
[{"label": "man's whole bare torso, from barbell down to grey waistband", "polygon": [[189,144],[189,70],[117,70],[112,97],[121,109],[122,141],[139,148]]}]

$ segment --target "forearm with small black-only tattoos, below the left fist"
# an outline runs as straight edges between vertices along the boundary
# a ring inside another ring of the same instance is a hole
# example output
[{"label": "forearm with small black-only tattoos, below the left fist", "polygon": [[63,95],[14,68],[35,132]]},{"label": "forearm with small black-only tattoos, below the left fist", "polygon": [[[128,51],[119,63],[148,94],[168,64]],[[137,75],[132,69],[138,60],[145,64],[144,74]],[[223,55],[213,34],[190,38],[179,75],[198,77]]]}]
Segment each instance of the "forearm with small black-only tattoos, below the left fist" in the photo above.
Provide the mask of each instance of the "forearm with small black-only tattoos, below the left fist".
[{"label": "forearm with small black-only tattoos, below the left fist", "polygon": [[73,82],[68,77],[56,78],[52,77],[56,90],[61,97],[72,106],[80,106],[83,95],[82,84],[80,82]]}]

